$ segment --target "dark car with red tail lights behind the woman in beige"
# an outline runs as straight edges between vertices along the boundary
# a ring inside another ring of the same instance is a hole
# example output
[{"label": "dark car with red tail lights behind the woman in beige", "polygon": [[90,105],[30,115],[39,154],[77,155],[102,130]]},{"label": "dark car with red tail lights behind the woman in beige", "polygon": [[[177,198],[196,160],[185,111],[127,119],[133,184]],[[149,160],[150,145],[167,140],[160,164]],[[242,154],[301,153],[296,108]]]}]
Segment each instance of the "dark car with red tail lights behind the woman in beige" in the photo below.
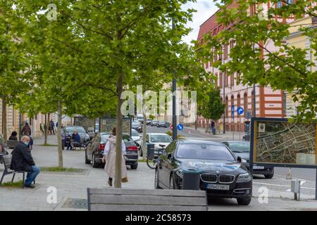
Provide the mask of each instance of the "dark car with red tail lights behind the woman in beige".
[{"label": "dark car with red tail lights behind the woman in beige", "polygon": [[[107,138],[110,136],[108,133],[98,133],[94,136],[91,142],[88,143],[85,151],[85,163],[92,163],[92,167],[104,167],[102,162],[104,148],[106,147]],[[130,165],[131,169],[137,169],[137,146],[131,139],[129,134],[123,133],[123,141],[125,143],[126,157],[125,165]]]}]

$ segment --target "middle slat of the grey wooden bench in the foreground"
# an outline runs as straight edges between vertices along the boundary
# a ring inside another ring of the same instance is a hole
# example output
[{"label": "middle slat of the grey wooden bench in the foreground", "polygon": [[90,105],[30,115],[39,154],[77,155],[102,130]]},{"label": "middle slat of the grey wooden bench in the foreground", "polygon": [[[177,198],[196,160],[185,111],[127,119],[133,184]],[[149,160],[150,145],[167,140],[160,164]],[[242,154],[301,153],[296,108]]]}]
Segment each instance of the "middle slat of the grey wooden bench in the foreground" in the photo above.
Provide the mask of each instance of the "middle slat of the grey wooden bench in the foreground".
[{"label": "middle slat of the grey wooden bench in the foreground", "polygon": [[174,196],[152,196],[152,195],[90,195],[90,201],[94,204],[115,204],[115,205],[206,205],[206,198],[174,197]]}]

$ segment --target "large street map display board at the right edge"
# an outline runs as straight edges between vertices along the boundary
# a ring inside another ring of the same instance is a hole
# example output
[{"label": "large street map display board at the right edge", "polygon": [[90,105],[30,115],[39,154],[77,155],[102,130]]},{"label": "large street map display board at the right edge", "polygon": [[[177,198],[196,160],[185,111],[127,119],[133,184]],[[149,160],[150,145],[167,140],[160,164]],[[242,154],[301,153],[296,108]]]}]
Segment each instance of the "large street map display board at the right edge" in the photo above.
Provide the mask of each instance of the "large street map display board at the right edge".
[{"label": "large street map display board at the right edge", "polygon": [[292,167],[317,167],[316,124],[285,119],[252,118],[253,162]]}]

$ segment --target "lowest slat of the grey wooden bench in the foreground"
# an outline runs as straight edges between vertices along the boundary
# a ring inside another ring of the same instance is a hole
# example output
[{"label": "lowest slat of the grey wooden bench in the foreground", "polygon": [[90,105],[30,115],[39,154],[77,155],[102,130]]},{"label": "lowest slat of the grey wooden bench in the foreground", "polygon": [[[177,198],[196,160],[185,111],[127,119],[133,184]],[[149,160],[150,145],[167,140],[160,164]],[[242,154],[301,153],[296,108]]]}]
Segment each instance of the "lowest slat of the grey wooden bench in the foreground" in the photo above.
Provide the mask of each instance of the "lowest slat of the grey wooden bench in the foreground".
[{"label": "lowest slat of the grey wooden bench in the foreground", "polygon": [[92,204],[92,211],[207,211],[206,206],[179,205],[102,205]]}]

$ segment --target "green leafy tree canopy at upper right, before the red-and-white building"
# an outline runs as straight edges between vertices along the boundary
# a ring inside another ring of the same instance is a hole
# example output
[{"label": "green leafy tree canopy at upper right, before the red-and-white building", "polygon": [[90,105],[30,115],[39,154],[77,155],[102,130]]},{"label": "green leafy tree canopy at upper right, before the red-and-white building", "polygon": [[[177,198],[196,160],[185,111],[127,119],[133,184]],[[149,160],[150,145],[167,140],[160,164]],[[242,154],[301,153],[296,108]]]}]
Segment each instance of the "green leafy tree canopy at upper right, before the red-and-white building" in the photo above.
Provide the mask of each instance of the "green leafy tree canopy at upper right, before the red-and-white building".
[{"label": "green leafy tree canopy at upper right, before the red-and-white building", "polygon": [[[213,61],[211,49],[223,53],[223,45],[235,41],[235,46],[230,50],[227,63],[221,61],[214,64],[220,70],[227,70],[229,74],[240,73],[238,82],[242,84],[271,85],[273,89],[294,91],[293,101],[299,101],[299,115],[295,120],[306,122],[316,121],[317,113],[317,72],[310,70],[316,64],[306,59],[306,51],[313,51],[317,57],[316,30],[313,24],[305,25],[300,30],[311,41],[311,49],[299,49],[290,46],[285,38],[290,35],[292,25],[283,23],[290,15],[295,19],[303,16],[316,18],[316,4],[309,0],[294,1],[289,4],[282,0],[280,8],[271,7],[266,13],[262,4],[277,4],[278,0],[237,0],[237,8],[228,8],[232,0],[217,1],[220,8],[217,13],[218,23],[228,29],[218,32],[215,36],[206,34],[199,55],[201,60]],[[256,6],[256,13],[249,14],[249,6]],[[276,20],[275,18],[281,18]],[[234,24],[234,29],[229,29]],[[197,43],[198,44],[198,43]],[[278,47],[272,51],[268,44]]]}]

